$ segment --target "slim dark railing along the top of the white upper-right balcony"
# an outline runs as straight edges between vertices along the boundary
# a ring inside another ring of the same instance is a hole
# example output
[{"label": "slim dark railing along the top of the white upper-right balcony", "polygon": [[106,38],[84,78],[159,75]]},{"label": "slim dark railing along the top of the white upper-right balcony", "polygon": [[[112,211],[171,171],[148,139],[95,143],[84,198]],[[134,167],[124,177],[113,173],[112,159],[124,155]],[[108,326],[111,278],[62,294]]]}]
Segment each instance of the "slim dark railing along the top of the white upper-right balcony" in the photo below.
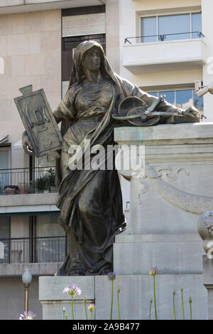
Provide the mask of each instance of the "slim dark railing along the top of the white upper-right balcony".
[{"label": "slim dark railing along the top of the white upper-right balcony", "polygon": [[[136,36],[136,37],[126,37],[124,44],[134,44],[134,43],[153,43],[153,42],[164,42],[164,41],[177,41],[182,39],[194,39],[204,37],[201,31],[190,31],[187,33],[165,33],[161,35],[148,35],[148,36]],[[155,39],[155,41],[154,41]],[[131,40],[131,41],[129,41]],[[134,41],[133,41],[134,40]]]}]

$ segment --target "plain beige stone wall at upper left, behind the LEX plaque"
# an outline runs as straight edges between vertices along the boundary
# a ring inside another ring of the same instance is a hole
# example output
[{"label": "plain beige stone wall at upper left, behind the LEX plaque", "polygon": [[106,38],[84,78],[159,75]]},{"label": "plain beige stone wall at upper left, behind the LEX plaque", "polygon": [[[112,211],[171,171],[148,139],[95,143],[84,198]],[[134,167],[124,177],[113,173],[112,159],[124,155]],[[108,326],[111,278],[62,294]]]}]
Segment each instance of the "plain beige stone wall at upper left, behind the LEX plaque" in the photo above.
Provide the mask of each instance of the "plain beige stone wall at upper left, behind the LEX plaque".
[{"label": "plain beige stone wall at upper left, behind the LEX plaque", "polygon": [[[21,139],[23,124],[13,102],[20,87],[43,88],[50,106],[61,98],[61,11],[35,11],[0,16],[0,136]],[[11,151],[11,166],[21,167],[23,150]],[[23,164],[23,162],[22,162]]]}]

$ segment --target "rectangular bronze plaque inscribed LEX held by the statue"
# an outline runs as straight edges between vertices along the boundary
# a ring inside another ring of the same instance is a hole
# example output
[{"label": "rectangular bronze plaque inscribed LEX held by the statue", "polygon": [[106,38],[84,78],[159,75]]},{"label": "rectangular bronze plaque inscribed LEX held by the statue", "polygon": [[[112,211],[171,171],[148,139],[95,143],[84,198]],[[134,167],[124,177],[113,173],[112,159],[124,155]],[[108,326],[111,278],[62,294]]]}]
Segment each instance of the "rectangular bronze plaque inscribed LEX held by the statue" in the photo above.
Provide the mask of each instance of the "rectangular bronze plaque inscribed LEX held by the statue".
[{"label": "rectangular bronze plaque inscribed LEX held by the statue", "polygon": [[19,89],[23,94],[14,102],[33,146],[35,156],[57,156],[62,136],[43,89],[33,92],[33,85]]}]

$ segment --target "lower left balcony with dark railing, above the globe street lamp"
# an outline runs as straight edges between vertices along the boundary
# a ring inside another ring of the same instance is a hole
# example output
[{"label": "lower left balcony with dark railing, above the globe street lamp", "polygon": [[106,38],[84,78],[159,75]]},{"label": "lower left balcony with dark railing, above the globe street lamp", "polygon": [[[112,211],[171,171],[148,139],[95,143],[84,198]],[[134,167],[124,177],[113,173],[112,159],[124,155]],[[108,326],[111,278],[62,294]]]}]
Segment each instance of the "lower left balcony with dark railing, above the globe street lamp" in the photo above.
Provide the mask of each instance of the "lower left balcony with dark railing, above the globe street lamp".
[{"label": "lower left balcony with dark railing, above the globe street lamp", "polygon": [[55,274],[66,256],[65,236],[0,239],[0,276]]}]

